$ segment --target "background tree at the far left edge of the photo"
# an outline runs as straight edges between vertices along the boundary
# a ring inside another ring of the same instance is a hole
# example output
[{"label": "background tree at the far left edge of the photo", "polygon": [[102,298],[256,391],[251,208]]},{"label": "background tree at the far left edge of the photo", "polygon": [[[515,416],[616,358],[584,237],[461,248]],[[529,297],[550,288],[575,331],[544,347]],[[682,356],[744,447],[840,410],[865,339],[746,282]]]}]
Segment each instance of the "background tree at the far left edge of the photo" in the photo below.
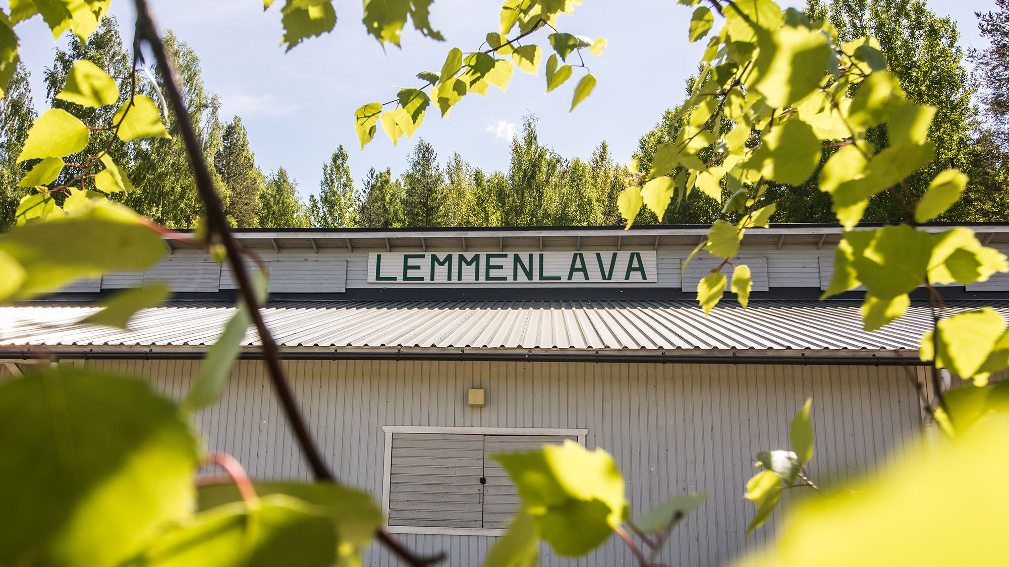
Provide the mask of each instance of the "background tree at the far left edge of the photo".
[{"label": "background tree at the far left edge of the photo", "polygon": [[35,116],[28,70],[18,63],[0,99],[0,229],[13,224],[18,203],[30,191],[17,187],[18,180],[28,171],[26,163],[17,163],[17,156]]}]

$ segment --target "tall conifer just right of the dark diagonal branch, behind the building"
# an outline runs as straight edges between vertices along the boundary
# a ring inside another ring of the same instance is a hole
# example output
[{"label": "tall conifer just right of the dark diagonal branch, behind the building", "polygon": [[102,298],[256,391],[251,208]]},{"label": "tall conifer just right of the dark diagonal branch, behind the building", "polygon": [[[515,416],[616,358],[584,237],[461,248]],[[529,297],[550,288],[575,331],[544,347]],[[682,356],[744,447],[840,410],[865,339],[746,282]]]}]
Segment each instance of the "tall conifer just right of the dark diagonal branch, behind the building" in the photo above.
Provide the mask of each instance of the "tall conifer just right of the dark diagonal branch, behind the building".
[{"label": "tall conifer just right of the dark diagonal branch, behind the building", "polygon": [[235,116],[224,126],[221,142],[214,157],[214,167],[227,191],[225,212],[238,228],[255,228],[259,226],[256,212],[263,189],[263,176],[249,149],[248,133],[242,126],[241,118]]}]

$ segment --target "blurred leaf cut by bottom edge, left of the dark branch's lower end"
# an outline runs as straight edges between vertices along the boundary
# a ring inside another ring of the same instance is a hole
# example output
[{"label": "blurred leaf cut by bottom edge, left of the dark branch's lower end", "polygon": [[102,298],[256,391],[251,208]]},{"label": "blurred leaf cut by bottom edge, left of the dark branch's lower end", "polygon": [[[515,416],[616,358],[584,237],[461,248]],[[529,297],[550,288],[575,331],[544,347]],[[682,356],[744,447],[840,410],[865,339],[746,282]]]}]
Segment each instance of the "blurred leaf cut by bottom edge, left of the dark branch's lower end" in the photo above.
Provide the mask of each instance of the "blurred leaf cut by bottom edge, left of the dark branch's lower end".
[{"label": "blurred leaf cut by bottom edge, left of the dark branch's lower end", "polygon": [[333,523],[316,506],[283,494],[198,515],[136,558],[144,567],[332,565]]}]

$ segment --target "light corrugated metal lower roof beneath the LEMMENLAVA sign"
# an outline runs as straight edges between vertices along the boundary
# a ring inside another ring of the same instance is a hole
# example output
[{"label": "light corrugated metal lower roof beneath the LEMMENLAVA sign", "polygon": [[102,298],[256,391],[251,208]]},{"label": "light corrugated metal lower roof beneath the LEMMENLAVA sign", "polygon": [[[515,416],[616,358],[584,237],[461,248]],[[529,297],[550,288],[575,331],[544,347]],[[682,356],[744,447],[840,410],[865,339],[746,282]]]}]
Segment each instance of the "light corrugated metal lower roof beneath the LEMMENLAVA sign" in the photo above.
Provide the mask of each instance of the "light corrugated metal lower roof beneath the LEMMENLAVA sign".
[{"label": "light corrugated metal lower roof beneath the LEMMENLAVA sign", "polygon": [[[723,302],[710,316],[692,302],[275,302],[264,317],[284,347],[519,349],[917,349],[931,312],[913,302],[882,330],[862,329],[858,301]],[[950,311],[980,302],[952,302]],[[1009,303],[994,307],[1009,318]],[[234,305],[175,301],[138,313],[129,330],[76,323],[94,304],[37,302],[0,308],[0,347],[199,346],[214,342]],[[259,345],[253,330],[243,344]]]}]

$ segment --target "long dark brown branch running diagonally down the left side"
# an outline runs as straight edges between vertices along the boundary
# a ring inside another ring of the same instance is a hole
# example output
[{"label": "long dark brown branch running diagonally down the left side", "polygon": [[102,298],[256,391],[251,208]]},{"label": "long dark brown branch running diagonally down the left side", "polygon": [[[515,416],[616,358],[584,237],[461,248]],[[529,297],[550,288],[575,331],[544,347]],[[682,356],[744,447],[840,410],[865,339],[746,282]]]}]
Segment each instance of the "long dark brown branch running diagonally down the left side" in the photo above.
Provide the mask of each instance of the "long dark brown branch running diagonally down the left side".
[{"label": "long dark brown branch running diagonally down the left side", "polygon": [[[190,121],[186,104],[183,101],[182,93],[179,90],[179,85],[176,83],[175,69],[172,66],[172,62],[169,60],[164,44],[161,42],[161,38],[157,34],[157,28],[154,26],[154,22],[151,19],[150,12],[147,8],[147,2],[146,0],[134,0],[134,3],[136,5],[137,33],[134,48],[139,45],[139,39],[145,40],[153,51],[157,65],[162,70],[164,77],[164,90],[167,94],[169,100],[171,101],[172,108],[176,113],[180,133],[182,134],[183,141],[186,145],[186,152],[189,155],[190,164],[193,167],[197,189],[199,190],[200,197],[207,209],[207,220],[209,224],[208,236],[217,236],[220,238],[221,244],[227,251],[228,261],[231,264],[232,271],[234,272],[235,280],[238,285],[242,301],[244,301],[249,308],[252,322],[259,335],[259,340],[262,342],[263,360],[265,361],[266,368],[269,371],[270,383],[273,385],[277,396],[281,399],[281,405],[284,408],[285,415],[295,431],[295,438],[298,440],[302,452],[309,461],[313,475],[318,480],[335,482],[336,478],[329,470],[329,467],[326,465],[322,455],[313,442],[308,426],[298,409],[298,404],[295,401],[294,393],[291,391],[291,387],[288,385],[287,379],[285,378],[284,368],[281,366],[279,361],[279,350],[272,335],[266,328],[262,314],[259,312],[259,302],[256,300],[255,293],[252,290],[252,284],[249,280],[248,272],[245,268],[245,259],[242,255],[241,247],[231,234],[228,227],[227,219],[224,215],[224,209],[221,205],[221,200],[217,196],[217,192],[214,189],[213,179],[210,176],[210,171],[207,168],[207,161],[204,159],[203,149],[196,137],[196,132],[194,131],[193,124]],[[412,567],[425,567],[440,561],[444,557],[444,554],[440,554],[439,556],[432,558],[419,557],[394,539],[387,532],[385,532],[384,529],[379,530],[378,539],[390,551]]]}]

